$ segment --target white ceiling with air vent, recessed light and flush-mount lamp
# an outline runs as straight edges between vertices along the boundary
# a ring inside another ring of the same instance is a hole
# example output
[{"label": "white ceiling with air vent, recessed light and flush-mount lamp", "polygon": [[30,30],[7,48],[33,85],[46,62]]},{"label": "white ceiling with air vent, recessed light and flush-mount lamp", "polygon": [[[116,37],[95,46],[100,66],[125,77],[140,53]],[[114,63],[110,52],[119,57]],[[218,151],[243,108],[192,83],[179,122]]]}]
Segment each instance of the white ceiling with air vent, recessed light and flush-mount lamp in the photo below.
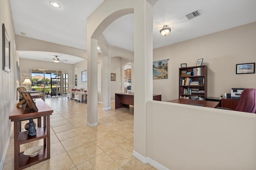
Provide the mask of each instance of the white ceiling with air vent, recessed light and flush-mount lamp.
[{"label": "white ceiling with air vent, recessed light and flush-mount lamp", "polygon": [[[10,0],[15,33],[79,49],[87,49],[86,20],[103,0]],[[186,14],[198,10],[200,16],[188,20]],[[154,5],[153,48],[163,47],[210,33],[256,21],[256,0],[159,0]],[[169,25],[171,33],[164,37],[159,30]],[[110,45],[134,51],[134,14],[122,16],[103,32]],[[143,30],[142,30],[143,31]],[[21,58],[51,59],[45,53],[22,52]],[[52,53],[52,55],[54,55]],[[77,63],[65,54],[65,63]],[[46,61],[46,60],[44,60]]]}]

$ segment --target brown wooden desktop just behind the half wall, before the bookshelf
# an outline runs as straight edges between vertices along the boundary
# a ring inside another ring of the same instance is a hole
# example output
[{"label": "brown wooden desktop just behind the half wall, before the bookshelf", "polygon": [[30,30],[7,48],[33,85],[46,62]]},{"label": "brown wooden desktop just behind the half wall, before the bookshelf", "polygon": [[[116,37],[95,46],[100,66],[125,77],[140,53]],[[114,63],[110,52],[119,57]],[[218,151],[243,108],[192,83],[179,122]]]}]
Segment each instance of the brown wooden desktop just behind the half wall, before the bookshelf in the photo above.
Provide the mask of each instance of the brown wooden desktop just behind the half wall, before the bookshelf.
[{"label": "brown wooden desktop just behind the half wall, before the bookshelf", "polygon": [[203,104],[204,107],[219,107],[220,102],[212,102],[206,100],[192,100],[192,99],[175,99],[167,102],[179,103],[179,104]]}]

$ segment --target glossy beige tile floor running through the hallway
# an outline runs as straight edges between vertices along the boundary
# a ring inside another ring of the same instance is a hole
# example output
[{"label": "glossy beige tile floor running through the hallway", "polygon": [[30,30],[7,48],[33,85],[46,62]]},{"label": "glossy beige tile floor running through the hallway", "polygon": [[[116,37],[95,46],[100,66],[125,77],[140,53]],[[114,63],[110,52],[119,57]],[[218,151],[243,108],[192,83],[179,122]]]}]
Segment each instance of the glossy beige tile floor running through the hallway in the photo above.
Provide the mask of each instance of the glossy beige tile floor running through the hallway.
[{"label": "glossy beige tile floor running through the hallway", "polygon": [[[112,102],[112,109],[102,110],[102,104],[98,104],[99,125],[88,127],[87,104],[67,97],[46,98],[45,102],[54,110],[50,116],[51,158],[26,170],[155,170],[132,156],[133,106],[113,109]],[[22,121],[23,128],[25,124]],[[43,145],[43,141],[21,145],[20,150],[37,145]],[[14,170],[13,134],[3,169]]]}]

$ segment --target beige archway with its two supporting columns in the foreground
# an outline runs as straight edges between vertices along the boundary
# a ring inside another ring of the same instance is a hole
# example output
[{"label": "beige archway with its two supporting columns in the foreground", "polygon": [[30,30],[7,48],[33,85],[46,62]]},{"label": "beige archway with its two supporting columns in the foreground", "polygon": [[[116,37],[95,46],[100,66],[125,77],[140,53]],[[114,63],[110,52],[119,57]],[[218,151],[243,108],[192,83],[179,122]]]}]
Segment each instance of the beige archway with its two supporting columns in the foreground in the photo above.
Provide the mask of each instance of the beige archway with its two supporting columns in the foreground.
[{"label": "beige archway with its two supporting columns in the foreground", "polygon": [[[153,5],[157,0],[104,1],[87,20],[87,125],[98,125],[98,38],[117,18],[134,13],[134,156],[146,163],[146,101],[152,100]],[[141,31],[142,30],[142,31]],[[110,75],[109,75],[110,76]],[[109,77],[110,79],[110,77]]]}]

